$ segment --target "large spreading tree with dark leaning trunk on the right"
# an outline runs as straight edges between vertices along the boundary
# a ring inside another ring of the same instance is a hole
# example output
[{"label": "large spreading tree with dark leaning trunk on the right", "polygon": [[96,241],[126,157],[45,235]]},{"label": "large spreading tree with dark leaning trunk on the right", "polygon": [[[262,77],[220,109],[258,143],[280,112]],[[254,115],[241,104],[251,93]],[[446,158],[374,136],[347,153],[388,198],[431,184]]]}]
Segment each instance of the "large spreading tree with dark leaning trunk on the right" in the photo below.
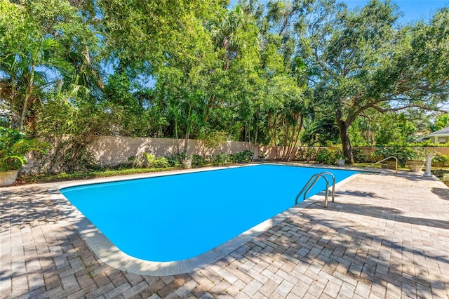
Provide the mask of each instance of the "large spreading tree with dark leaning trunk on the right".
[{"label": "large spreading tree with dark leaning trunk on the right", "polygon": [[[345,157],[353,159],[349,127],[361,115],[438,109],[436,103],[445,101],[448,19],[443,8],[429,24],[397,29],[398,7],[391,1],[355,10],[316,1],[310,18],[298,22],[307,36],[300,53],[312,73],[316,105],[335,116]],[[415,130],[410,124],[398,129],[406,137]]]}]

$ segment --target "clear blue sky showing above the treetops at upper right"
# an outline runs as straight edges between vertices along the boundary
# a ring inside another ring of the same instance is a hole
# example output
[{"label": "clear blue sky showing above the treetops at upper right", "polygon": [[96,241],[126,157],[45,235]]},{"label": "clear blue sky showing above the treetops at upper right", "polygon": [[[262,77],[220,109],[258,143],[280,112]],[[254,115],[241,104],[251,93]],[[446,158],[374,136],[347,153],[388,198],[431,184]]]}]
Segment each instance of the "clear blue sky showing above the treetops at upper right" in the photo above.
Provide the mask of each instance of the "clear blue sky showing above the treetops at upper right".
[{"label": "clear blue sky showing above the treetops at upper right", "polygon": [[[267,2],[268,0],[260,0],[260,2]],[[347,4],[349,8],[356,6],[363,7],[368,3],[368,0],[340,0]],[[238,0],[231,0],[231,6],[234,6]],[[398,4],[399,11],[403,16],[399,19],[401,23],[415,22],[417,20],[430,20],[438,8],[449,6],[449,0],[392,0]]]}]

